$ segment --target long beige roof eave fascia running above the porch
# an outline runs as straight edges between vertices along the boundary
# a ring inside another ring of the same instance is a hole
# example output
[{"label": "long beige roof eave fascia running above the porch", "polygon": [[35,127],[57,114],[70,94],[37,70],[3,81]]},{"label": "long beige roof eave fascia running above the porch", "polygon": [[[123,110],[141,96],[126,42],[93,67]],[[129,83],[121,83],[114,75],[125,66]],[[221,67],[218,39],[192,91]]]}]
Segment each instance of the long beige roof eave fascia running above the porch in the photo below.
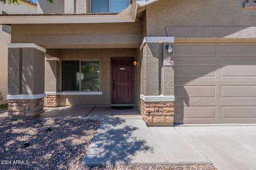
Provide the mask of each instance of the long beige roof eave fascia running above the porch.
[{"label": "long beige roof eave fascia running above the porch", "polygon": [[135,22],[138,4],[132,1],[118,14],[27,14],[0,15],[0,24],[116,23]]}]

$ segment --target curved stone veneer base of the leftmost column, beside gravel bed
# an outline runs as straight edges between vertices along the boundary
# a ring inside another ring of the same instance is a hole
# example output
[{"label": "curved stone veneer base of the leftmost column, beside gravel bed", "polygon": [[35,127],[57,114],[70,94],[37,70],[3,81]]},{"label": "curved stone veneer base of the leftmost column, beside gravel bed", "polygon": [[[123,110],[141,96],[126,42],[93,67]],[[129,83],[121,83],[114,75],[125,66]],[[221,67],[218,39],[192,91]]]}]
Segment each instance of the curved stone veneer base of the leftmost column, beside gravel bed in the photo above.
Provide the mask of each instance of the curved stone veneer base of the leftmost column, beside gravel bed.
[{"label": "curved stone veneer base of the leftmost column, beside gravel bed", "polygon": [[8,115],[36,116],[44,113],[44,98],[33,100],[8,100]]}]

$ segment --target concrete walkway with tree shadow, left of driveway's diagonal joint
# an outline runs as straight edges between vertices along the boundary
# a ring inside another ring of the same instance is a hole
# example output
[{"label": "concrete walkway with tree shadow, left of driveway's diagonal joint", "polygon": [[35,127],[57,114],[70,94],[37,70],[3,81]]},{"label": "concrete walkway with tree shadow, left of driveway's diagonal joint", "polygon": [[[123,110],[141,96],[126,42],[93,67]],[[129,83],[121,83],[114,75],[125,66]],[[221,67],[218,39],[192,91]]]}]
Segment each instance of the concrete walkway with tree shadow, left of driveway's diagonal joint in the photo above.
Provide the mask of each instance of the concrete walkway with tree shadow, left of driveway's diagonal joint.
[{"label": "concrete walkway with tree shadow, left of driveway's diagonal joint", "polygon": [[148,128],[143,120],[105,120],[83,164],[210,163],[174,128]]}]

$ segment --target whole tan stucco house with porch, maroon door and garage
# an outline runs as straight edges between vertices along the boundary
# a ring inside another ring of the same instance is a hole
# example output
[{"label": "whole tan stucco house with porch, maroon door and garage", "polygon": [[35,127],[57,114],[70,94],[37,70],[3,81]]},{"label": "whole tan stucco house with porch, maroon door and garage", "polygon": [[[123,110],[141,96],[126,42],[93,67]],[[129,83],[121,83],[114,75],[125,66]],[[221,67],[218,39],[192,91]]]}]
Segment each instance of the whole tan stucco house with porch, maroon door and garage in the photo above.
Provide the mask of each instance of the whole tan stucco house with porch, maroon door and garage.
[{"label": "whole tan stucco house with porch, maroon door and garage", "polygon": [[135,105],[150,126],[256,122],[256,3],[39,0],[12,25],[9,114]]}]

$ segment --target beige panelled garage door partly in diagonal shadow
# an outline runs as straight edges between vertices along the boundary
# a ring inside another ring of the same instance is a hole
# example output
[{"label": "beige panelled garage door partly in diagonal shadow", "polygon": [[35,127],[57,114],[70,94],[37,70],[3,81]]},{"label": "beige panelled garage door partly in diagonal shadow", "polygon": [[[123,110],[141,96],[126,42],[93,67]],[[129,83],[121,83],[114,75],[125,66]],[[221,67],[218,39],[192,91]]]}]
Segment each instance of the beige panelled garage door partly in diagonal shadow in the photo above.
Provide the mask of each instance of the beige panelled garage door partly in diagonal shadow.
[{"label": "beige panelled garage door partly in diagonal shadow", "polygon": [[256,44],[175,44],[175,123],[256,123]]}]

